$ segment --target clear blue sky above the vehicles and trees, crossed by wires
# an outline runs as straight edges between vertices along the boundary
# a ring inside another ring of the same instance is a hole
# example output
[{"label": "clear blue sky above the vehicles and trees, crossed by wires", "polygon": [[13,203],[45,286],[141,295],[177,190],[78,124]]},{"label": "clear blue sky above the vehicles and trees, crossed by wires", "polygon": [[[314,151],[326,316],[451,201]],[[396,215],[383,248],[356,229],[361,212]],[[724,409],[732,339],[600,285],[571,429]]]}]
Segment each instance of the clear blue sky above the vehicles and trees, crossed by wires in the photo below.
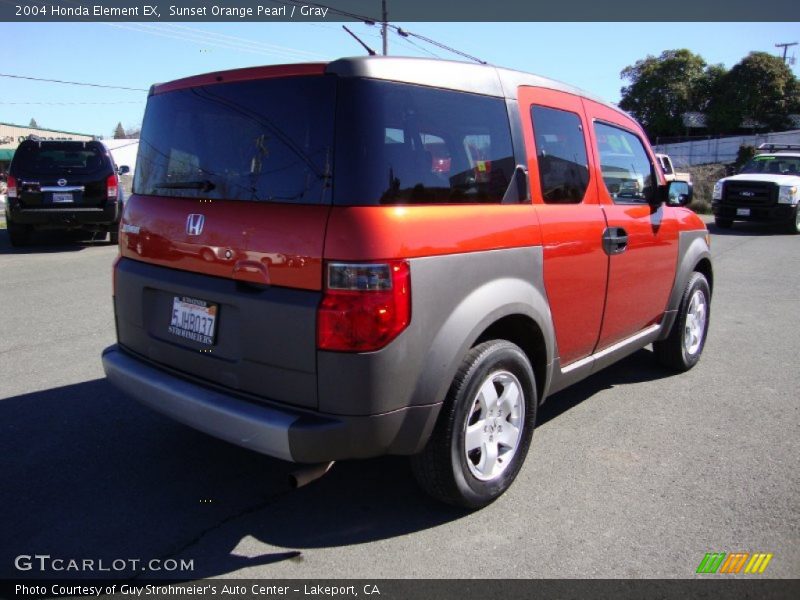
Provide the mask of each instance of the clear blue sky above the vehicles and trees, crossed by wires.
[{"label": "clear blue sky above the vehicles and trees, crossed by wires", "polygon": [[[689,48],[708,63],[778,53],[799,23],[397,23],[490,63],[565,81],[616,102],[620,71],[648,54]],[[348,24],[376,50],[377,27]],[[178,77],[363,54],[341,23],[0,23],[0,73],[147,89]],[[389,53],[457,58],[396,35]],[[424,48],[424,50],[423,50]],[[800,46],[793,67],[800,73]],[[426,52],[426,50],[428,52]],[[109,136],[141,123],[146,92],[0,77],[0,122]]]}]

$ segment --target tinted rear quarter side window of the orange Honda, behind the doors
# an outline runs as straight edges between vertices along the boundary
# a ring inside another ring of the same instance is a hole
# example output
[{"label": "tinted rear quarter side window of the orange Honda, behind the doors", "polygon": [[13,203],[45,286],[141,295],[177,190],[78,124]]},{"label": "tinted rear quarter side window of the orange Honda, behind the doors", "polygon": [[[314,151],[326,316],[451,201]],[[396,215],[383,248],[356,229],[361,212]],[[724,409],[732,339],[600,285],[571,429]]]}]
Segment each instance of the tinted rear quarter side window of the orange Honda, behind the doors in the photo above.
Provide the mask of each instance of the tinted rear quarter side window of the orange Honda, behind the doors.
[{"label": "tinted rear quarter side window of the orange Honda, behind the doors", "polygon": [[343,79],[334,202],[499,203],[515,161],[500,98]]}]

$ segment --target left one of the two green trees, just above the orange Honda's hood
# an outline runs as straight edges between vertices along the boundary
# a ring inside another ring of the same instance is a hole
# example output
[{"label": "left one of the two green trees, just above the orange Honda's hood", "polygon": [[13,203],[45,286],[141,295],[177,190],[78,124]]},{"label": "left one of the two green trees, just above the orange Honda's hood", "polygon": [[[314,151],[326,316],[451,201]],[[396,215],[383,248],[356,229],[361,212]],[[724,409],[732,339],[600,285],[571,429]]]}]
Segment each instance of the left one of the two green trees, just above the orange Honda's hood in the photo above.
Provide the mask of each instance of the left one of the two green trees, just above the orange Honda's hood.
[{"label": "left one of the two green trees, just above the orange Honda's hood", "polygon": [[685,131],[683,113],[701,110],[708,102],[711,79],[721,67],[706,69],[703,58],[689,50],[664,50],[620,73],[630,82],[620,91],[620,108],[642,124],[651,140]]}]

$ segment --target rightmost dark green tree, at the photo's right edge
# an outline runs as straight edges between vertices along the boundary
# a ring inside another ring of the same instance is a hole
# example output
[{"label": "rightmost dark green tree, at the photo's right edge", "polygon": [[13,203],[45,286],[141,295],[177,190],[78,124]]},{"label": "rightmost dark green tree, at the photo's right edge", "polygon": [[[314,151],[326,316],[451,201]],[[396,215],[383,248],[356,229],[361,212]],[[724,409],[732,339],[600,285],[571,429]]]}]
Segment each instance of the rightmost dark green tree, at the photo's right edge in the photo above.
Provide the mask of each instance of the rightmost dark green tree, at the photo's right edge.
[{"label": "rightmost dark green tree, at the photo's right edge", "polygon": [[752,120],[763,129],[789,129],[789,115],[800,111],[800,83],[783,60],[751,52],[714,85],[708,106],[709,128],[731,133]]}]

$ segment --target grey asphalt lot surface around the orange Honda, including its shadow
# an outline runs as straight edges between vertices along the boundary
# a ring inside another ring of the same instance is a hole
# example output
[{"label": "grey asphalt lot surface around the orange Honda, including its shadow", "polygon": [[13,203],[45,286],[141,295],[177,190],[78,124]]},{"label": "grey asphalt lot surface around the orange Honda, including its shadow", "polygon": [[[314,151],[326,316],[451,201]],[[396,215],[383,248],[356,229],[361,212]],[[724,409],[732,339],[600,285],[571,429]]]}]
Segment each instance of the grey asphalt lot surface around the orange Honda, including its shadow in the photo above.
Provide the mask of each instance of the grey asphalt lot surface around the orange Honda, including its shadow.
[{"label": "grey asphalt lot surface around the orange Honda, including its shadow", "polygon": [[100,365],[116,247],[0,230],[0,577],[41,576],[14,564],[40,554],[184,560],[145,574],[183,579],[683,578],[707,552],[800,577],[800,236],[712,232],[699,365],[646,349],[551,397],[514,486],[469,513],[397,457],[292,490],[292,465],[120,396]]}]

